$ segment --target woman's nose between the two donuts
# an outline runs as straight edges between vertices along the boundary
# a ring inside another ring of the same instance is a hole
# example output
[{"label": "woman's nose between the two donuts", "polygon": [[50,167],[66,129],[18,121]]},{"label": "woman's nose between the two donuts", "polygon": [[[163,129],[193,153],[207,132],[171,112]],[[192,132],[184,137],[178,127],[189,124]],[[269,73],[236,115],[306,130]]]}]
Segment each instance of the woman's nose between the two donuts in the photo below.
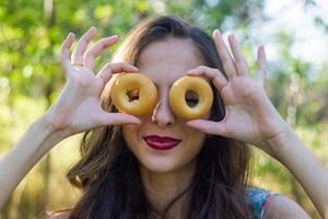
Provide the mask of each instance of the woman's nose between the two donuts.
[{"label": "woman's nose between the two donuts", "polygon": [[152,122],[161,128],[166,128],[175,124],[175,115],[169,108],[168,96],[162,96],[153,111]]}]

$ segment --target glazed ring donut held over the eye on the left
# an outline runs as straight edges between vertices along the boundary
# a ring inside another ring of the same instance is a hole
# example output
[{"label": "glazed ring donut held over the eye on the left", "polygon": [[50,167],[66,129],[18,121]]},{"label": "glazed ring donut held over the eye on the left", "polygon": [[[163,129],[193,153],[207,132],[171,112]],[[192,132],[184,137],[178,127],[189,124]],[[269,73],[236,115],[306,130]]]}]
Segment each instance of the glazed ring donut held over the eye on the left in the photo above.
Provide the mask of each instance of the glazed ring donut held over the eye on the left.
[{"label": "glazed ring donut held over the eye on the left", "polygon": [[121,73],[113,83],[110,99],[118,111],[143,116],[155,107],[157,89],[141,73]]}]

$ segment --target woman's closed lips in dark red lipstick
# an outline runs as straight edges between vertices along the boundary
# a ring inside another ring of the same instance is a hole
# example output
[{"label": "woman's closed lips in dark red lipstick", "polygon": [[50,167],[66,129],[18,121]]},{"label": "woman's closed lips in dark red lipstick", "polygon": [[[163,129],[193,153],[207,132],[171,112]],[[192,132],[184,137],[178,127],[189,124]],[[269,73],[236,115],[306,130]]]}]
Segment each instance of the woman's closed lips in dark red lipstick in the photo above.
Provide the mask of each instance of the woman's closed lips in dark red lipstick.
[{"label": "woman's closed lips in dark red lipstick", "polygon": [[171,137],[161,137],[161,136],[145,136],[143,137],[144,141],[150,148],[155,150],[168,150],[176,147],[181,140],[171,138]]}]

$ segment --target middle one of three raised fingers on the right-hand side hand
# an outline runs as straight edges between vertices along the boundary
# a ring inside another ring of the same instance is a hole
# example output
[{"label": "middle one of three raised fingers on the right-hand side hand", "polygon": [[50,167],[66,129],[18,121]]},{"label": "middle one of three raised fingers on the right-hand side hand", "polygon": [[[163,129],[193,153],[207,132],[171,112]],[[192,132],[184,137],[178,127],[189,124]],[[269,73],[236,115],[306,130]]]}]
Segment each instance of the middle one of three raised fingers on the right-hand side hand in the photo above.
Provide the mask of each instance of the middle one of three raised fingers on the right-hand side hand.
[{"label": "middle one of three raised fingers on the right-hand side hand", "polygon": [[242,53],[241,46],[237,43],[236,38],[234,35],[230,35],[227,37],[230,47],[232,49],[235,64],[236,64],[236,69],[238,72],[238,76],[248,76],[248,65],[247,61]]}]

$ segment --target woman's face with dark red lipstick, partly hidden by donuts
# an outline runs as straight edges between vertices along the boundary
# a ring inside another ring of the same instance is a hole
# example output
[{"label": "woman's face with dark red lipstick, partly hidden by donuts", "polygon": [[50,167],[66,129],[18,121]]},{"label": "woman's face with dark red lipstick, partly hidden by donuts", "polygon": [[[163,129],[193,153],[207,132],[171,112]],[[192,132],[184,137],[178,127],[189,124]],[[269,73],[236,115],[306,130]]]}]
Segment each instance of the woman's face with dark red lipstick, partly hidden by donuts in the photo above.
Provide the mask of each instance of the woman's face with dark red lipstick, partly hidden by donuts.
[{"label": "woman's face with dark red lipstick, partly hidden by donuts", "polygon": [[[172,112],[168,92],[177,79],[203,62],[201,54],[192,43],[181,38],[171,37],[154,42],[141,53],[137,67],[156,85],[159,103],[152,115],[141,117],[140,126],[124,125],[122,132],[142,168],[163,173],[194,166],[195,158],[202,148],[204,134],[187,127],[186,120]],[[172,149],[154,149],[145,140],[150,136],[174,138],[179,143]]]}]

